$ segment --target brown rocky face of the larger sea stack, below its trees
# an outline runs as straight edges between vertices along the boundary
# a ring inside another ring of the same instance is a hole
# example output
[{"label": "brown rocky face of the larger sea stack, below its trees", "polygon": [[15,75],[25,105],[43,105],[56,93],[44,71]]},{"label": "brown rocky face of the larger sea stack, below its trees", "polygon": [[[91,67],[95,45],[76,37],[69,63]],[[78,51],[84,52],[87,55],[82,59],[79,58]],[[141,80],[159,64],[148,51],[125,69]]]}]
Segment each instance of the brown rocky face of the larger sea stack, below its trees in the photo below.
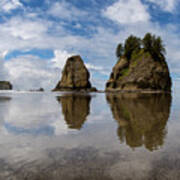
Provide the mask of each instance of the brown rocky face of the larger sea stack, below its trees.
[{"label": "brown rocky face of the larger sea stack, below its trees", "polygon": [[129,61],[122,57],[106,83],[106,91],[118,90],[171,91],[171,78],[165,59],[157,60],[143,52]]}]

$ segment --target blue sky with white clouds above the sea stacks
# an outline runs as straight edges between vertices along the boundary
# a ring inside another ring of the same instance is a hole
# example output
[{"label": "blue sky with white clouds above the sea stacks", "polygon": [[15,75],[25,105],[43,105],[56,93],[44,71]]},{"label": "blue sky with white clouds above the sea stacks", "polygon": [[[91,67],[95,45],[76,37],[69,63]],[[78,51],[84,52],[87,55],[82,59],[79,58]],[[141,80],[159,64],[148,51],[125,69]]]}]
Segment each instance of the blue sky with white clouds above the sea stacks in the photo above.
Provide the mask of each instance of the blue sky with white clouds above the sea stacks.
[{"label": "blue sky with white clouds above the sea stacks", "polygon": [[81,55],[104,89],[118,43],[161,36],[173,84],[180,81],[179,0],[0,0],[0,80],[51,90],[66,59]]}]

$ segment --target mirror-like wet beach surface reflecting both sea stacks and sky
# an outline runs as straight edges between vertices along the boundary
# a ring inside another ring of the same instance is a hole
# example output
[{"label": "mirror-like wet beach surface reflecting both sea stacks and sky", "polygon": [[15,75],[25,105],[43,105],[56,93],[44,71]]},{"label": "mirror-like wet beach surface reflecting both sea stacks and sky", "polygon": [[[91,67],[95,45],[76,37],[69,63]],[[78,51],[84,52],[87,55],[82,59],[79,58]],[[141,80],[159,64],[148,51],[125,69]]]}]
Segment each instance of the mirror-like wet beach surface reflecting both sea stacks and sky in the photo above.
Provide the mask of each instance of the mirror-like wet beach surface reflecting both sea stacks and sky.
[{"label": "mirror-like wet beach surface reflecting both sea stacks and sky", "polygon": [[179,179],[179,97],[1,91],[0,179]]}]

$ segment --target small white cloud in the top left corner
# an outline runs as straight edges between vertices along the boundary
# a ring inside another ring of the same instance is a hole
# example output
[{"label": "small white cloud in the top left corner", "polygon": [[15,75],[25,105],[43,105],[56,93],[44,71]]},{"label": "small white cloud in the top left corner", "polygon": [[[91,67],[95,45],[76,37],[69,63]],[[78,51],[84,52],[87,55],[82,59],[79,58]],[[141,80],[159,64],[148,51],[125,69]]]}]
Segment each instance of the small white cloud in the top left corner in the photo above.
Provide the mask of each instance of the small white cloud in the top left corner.
[{"label": "small white cloud in the top left corner", "polygon": [[13,9],[22,7],[23,5],[19,0],[1,0],[0,1],[0,10],[5,12],[10,12]]}]

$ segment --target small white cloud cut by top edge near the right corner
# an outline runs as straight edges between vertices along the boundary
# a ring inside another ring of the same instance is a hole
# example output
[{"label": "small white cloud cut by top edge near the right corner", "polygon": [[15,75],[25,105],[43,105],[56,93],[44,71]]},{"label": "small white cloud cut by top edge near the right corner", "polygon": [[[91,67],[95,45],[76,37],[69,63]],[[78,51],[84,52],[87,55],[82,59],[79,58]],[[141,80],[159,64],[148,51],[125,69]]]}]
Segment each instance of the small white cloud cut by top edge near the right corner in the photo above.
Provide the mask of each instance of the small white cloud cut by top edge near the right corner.
[{"label": "small white cloud cut by top edge near the right corner", "polygon": [[154,3],[159,6],[162,10],[173,12],[176,6],[177,0],[146,0],[147,2]]}]

